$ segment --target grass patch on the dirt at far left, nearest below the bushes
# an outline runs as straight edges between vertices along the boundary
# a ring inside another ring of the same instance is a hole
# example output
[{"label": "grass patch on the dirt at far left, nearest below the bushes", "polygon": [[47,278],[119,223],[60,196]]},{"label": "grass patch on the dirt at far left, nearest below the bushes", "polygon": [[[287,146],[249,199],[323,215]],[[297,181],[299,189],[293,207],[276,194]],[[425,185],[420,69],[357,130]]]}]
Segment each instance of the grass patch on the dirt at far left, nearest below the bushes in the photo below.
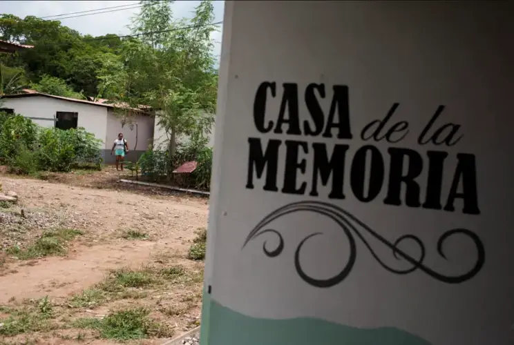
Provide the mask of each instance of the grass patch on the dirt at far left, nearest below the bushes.
[{"label": "grass patch on the dirt at far left, nearest below the bushes", "polygon": [[24,249],[15,246],[9,248],[7,253],[21,260],[36,259],[37,257],[47,257],[50,255],[63,256],[68,253],[66,242],[74,239],[78,235],[83,235],[83,233],[75,229],[47,231],[31,246]]}]

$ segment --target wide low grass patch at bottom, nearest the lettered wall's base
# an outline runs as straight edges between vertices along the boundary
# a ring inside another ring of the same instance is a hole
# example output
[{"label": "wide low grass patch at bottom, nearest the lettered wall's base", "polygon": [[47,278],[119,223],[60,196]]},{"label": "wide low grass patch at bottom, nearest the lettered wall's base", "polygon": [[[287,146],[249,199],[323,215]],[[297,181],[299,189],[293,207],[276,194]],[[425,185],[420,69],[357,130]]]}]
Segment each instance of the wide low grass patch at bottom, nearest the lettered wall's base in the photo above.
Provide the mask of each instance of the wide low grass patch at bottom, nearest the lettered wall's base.
[{"label": "wide low grass patch at bottom, nearest the lettered wall's base", "polygon": [[146,337],[171,337],[173,331],[153,321],[149,311],[133,308],[110,313],[104,319],[78,319],[73,322],[77,328],[91,328],[99,331],[104,339],[126,341]]}]

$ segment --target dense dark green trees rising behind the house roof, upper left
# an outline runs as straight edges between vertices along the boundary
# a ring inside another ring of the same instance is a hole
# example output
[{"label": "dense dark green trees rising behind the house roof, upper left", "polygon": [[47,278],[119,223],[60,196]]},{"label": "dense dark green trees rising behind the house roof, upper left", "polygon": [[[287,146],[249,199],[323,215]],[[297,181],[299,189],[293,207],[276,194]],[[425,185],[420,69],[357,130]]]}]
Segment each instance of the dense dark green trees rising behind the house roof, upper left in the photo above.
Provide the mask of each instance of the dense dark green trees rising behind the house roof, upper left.
[{"label": "dense dark green trees rising behind the house roof, upper left", "polygon": [[113,34],[82,37],[59,21],[30,16],[20,19],[12,14],[0,14],[0,39],[34,46],[15,55],[1,55],[4,65],[26,69],[35,83],[43,75],[63,79],[75,92],[88,96],[97,95],[97,70],[122,45]]}]

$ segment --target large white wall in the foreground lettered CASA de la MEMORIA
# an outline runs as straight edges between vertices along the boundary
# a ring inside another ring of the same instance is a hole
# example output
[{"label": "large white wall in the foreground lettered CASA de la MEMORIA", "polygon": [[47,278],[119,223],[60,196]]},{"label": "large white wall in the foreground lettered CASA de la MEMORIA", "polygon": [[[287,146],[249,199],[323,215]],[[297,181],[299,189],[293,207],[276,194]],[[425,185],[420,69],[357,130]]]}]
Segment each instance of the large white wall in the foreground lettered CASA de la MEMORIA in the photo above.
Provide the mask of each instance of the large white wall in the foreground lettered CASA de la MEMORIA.
[{"label": "large white wall in the foreground lettered CASA de la MEMORIA", "polygon": [[203,345],[514,344],[513,10],[226,3]]}]

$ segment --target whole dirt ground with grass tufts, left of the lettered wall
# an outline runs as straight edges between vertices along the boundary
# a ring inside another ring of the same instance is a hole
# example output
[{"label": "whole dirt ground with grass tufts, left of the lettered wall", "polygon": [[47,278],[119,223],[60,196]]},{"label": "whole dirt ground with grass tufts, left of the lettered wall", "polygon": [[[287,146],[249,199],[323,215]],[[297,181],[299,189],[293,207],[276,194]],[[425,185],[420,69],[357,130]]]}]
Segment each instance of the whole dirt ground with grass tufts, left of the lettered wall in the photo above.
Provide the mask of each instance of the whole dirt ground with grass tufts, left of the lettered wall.
[{"label": "whole dirt ground with grass tufts, left of the lettered wall", "polygon": [[[77,325],[128,308],[149,313],[145,344],[198,326],[203,262],[187,253],[207,227],[208,200],[120,177],[111,167],[45,180],[0,175],[3,190],[19,195],[0,208],[0,344],[112,344],[104,324]],[[79,235],[45,235],[56,229]],[[46,247],[34,244],[48,236],[61,241],[59,255],[38,254]]]}]

